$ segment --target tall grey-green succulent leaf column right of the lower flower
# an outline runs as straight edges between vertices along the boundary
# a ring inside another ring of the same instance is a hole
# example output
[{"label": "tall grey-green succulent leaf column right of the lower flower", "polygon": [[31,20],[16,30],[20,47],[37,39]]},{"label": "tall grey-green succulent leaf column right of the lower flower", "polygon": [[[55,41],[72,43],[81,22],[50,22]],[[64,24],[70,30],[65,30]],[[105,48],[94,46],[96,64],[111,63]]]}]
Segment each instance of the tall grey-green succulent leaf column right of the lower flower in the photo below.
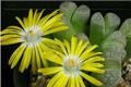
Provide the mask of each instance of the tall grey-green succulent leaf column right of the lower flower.
[{"label": "tall grey-green succulent leaf column right of the lower flower", "polygon": [[127,39],[119,30],[110,34],[102,44],[103,55],[106,59],[106,73],[95,76],[104,82],[103,87],[116,87],[121,78],[121,60],[127,54],[124,50],[126,45]]}]

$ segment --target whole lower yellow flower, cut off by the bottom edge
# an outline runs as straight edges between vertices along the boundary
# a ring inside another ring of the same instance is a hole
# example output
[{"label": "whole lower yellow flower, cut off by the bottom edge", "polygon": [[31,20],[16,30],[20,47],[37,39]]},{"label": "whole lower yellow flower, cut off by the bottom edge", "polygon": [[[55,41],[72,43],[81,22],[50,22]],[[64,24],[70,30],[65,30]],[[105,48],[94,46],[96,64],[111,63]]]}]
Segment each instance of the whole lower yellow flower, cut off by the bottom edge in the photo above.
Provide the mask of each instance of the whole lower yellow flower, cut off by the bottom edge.
[{"label": "whole lower yellow flower, cut off by the bottom edge", "polygon": [[88,75],[92,73],[104,73],[104,65],[100,63],[105,59],[99,57],[102,52],[93,51],[97,45],[91,46],[88,41],[78,40],[72,37],[71,44],[67,40],[55,39],[56,47],[44,53],[44,57],[56,66],[39,69],[43,75],[56,74],[48,83],[47,87],[85,87],[82,79],[102,86],[103,83]]}]

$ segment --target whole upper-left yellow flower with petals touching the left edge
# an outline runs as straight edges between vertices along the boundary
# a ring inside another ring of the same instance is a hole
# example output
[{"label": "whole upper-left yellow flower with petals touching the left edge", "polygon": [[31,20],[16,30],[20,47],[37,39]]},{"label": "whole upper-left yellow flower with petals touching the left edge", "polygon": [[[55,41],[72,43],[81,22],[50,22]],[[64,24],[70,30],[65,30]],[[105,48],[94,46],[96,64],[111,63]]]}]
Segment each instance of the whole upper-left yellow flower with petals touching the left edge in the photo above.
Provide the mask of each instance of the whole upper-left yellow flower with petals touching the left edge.
[{"label": "whole upper-left yellow flower with petals touching the left edge", "polygon": [[68,29],[68,26],[61,22],[63,14],[60,13],[59,10],[41,17],[44,11],[45,10],[38,12],[38,10],[36,10],[33,12],[31,9],[28,11],[28,16],[24,17],[23,21],[17,16],[15,17],[22,27],[9,26],[0,32],[0,41],[2,46],[22,42],[9,60],[11,69],[17,64],[21,58],[21,72],[27,69],[31,62],[33,66],[37,67],[40,67],[40,62],[46,64],[41,53],[44,51],[45,44],[51,44],[51,40],[45,36]]}]

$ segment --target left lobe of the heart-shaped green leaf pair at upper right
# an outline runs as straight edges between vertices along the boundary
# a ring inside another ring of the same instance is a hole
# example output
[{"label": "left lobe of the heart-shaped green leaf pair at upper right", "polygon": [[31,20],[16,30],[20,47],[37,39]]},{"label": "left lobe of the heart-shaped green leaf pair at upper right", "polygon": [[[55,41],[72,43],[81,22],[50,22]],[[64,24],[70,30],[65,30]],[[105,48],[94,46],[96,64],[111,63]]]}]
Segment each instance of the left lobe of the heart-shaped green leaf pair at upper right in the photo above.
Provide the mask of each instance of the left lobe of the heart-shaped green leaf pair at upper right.
[{"label": "left lobe of the heart-shaped green leaf pair at upper right", "polygon": [[90,39],[92,44],[100,45],[104,40],[105,22],[102,13],[96,12],[91,18]]}]

